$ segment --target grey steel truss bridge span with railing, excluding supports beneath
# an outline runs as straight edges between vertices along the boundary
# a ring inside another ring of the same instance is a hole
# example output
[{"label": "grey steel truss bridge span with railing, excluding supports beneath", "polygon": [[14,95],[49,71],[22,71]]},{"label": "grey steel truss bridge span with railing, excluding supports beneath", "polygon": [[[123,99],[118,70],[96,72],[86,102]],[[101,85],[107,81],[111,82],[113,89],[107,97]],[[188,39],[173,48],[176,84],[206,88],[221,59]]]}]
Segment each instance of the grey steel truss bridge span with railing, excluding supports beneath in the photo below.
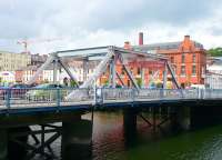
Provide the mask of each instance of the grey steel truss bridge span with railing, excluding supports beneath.
[{"label": "grey steel truss bridge span with railing, excluding supports beneath", "polygon": [[[69,61],[81,61],[84,81],[79,84],[77,76],[69,67]],[[87,77],[89,63],[95,62],[93,73]],[[155,63],[155,66],[150,66]],[[159,70],[163,71],[162,89],[148,89],[137,83],[137,76],[130,70],[130,64],[141,68],[141,80],[144,81],[144,69],[153,70],[151,77],[155,77]],[[40,73],[48,67],[53,66],[53,83],[59,83],[58,71],[63,69],[71,80],[75,81],[75,88],[27,88],[27,89],[1,89],[1,113],[56,111],[56,110],[89,110],[92,107],[115,107],[125,103],[135,104],[144,102],[161,103],[163,101],[179,102],[181,100],[220,99],[222,90],[183,90],[179,87],[173,69],[168,58],[162,54],[148,53],[135,50],[108,46],[64,50],[50,53],[48,60],[38,69],[36,74],[27,82],[34,83]],[[130,80],[131,87],[125,87],[121,73],[117,67],[121,67]],[[109,72],[108,87],[98,83],[98,80]],[[171,77],[174,89],[167,89],[167,79]],[[117,88],[117,81],[121,88]],[[36,96],[34,92],[43,92]]]}]

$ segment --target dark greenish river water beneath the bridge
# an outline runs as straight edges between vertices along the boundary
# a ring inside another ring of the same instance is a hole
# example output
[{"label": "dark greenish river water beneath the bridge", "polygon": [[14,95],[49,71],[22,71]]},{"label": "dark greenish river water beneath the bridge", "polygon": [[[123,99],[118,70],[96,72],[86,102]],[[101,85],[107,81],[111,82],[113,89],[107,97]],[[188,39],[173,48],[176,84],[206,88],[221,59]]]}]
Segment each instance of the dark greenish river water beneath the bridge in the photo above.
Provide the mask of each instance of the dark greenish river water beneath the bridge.
[{"label": "dark greenish river water beneath the bridge", "polygon": [[[89,116],[85,116],[90,118]],[[155,132],[138,119],[138,134],[125,138],[121,112],[95,112],[92,160],[222,160],[222,126],[188,132]],[[60,159],[60,142],[53,144]],[[74,159],[74,157],[73,157]]]}]

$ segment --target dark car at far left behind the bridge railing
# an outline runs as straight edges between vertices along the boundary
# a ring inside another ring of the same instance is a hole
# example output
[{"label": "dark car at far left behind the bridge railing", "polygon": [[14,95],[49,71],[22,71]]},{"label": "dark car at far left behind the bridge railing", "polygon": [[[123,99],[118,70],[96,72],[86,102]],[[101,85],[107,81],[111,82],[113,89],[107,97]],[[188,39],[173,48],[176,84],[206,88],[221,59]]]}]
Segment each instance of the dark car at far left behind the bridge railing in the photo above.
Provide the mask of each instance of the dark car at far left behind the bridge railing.
[{"label": "dark car at far left behind the bridge railing", "polygon": [[26,92],[29,90],[28,84],[12,84],[10,87],[1,87],[0,88],[0,99],[7,99],[8,94],[9,98],[23,98]]}]

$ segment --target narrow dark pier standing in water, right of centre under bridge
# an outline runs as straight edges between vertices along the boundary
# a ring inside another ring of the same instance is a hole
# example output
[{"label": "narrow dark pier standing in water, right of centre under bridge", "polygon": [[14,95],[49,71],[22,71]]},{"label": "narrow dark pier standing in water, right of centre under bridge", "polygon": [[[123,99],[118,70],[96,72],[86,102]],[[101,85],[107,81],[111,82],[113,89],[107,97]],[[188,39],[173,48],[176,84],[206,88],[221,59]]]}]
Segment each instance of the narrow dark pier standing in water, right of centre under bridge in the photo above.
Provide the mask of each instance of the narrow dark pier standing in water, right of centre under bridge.
[{"label": "narrow dark pier standing in water, right of centre under bridge", "polygon": [[127,138],[137,133],[137,111],[134,109],[127,108],[123,110],[123,128]]}]

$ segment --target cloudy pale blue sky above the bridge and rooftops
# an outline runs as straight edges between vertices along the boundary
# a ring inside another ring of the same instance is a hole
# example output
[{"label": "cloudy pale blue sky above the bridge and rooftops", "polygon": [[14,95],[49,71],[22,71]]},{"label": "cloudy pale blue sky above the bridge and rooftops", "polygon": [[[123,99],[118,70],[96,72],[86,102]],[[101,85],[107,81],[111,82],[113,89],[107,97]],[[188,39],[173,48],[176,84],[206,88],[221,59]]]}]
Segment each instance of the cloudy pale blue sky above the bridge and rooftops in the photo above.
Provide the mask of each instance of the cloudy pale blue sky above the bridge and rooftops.
[{"label": "cloudy pale blue sky above the bridge and rooftops", "polygon": [[181,41],[222,47],[221,0],[0,0],[0,50],[32,53]]}]

